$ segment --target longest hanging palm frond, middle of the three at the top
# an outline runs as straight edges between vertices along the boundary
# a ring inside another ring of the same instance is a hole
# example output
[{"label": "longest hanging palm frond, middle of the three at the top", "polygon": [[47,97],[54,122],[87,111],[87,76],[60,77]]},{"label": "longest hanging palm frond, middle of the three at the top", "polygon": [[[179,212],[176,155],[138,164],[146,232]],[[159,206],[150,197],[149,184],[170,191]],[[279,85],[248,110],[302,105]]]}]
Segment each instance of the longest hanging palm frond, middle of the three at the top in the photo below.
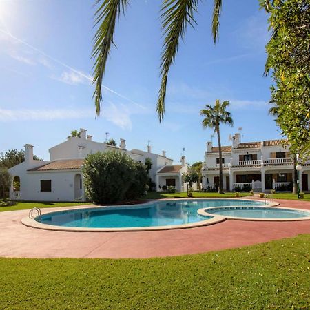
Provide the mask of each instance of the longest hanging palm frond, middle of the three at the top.
[{"label": "longest hanging palm frond, middle of the three at the top", "polygon": [[164,0],[161,8],[163,52],[161,54],[161,88],[158,92],[156,112],[159,121],[165,115],[165,96],[169,69],[178,53],[180,39],[184,39],[187,25],[194,25],[194,12],[198,0]]}]

